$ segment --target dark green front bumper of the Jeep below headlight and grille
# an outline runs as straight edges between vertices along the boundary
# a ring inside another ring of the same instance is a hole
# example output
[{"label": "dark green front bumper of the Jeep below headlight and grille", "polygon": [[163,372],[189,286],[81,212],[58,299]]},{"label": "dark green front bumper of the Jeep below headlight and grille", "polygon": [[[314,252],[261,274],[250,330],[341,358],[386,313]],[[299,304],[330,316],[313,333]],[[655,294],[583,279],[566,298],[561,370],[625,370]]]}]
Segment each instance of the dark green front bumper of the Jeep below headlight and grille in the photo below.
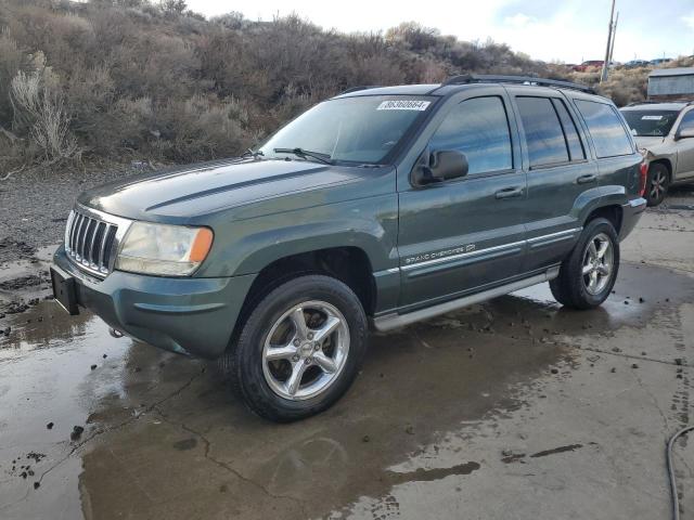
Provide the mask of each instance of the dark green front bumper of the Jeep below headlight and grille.
[{"label": "dark green front bumper of the Jeep below headlight and grille", "polygon": [[98,280],[68,260],[54,265],[75,280],[77,302],[113,328],[154,347],[214,359],[229,344],[254,274],[221,278],[160,277],[113,271]]}]

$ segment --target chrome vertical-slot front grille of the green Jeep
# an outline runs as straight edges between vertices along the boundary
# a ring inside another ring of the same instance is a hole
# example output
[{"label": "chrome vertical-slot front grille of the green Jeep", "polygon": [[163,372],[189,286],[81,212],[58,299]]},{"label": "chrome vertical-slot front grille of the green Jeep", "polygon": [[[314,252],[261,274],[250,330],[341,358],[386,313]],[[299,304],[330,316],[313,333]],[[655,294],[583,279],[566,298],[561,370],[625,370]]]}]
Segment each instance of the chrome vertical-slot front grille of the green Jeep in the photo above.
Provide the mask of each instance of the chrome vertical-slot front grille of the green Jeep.
[{"label": "chrome vertical-slot front grille of the green Jeep", "polygon": [[80,268],[105,276],[117,232],[117,224],[73,210],[65,229],[65,252]]}]

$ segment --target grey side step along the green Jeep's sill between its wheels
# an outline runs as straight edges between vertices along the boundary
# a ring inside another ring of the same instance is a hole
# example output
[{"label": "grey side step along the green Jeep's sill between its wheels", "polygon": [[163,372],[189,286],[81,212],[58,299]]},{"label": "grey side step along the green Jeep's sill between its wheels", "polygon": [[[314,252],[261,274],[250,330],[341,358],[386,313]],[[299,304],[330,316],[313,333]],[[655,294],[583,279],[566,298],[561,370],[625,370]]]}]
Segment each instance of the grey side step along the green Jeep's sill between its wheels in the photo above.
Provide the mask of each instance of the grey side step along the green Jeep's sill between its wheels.
[{"label": "grey side step along the green Jeep's sill between its wheels", "polygon": [[446,314],[447,312],[455,311],[463,307],[468,307],[475,303],[490,300],[492,298],[497,298],[499,296],[507,295],[509,292],[524,289],[526,287],[530,287],[531,285],[549,282],[556,278],[558,274],[560,268],[558,265],[556,265],[554,268],[548,269],[542,274],[537,274],[535,276],[530,276],[529,278],[512,282],[511,284],[501,285],[499,287],[484,290],[481,292],[476,292],[474,295],[464,296],[462,298],[458,298],[457,300],[445,301],[444,303],[427,307],[426,309],[420,309],[419,311],[408,312],[407,314],[386,314],[384,316],[374,318],[372,321],[372,324],[376,330],[378,330],[380,333],[385,333],[395,328],[404,327],[406,325],[410,325],[414,322],[421,322],[422,320],[428,320],[429,317]]}]

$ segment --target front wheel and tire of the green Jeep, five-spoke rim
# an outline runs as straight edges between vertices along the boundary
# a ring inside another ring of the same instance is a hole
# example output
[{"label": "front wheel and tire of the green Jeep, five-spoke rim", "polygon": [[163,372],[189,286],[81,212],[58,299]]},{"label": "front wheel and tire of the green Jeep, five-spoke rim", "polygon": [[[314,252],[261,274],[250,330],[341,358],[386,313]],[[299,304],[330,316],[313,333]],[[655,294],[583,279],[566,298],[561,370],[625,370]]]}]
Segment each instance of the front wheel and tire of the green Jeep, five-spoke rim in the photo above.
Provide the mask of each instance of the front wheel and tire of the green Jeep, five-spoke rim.
[{"label": "front wheel and tire of the green Jeep, five-spoke rim", "polygon": [[367,317],[355,292],[323,275],[300,276],[266,296],[224,354],[246,405],[287,422],[337,401],[359,372]]}]

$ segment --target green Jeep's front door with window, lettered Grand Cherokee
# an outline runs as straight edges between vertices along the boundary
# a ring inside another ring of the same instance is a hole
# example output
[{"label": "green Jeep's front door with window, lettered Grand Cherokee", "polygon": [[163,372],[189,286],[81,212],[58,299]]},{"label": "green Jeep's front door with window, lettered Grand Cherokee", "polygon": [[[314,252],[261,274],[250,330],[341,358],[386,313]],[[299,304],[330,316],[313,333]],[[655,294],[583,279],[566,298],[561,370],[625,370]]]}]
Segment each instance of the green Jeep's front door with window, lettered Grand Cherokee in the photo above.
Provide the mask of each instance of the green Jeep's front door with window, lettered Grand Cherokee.
[{"label": "green Jeep's front door with window, lettered Grand Cherokee", "polygon": [[514,160],[510,116],[515,120],[505,91],[498,93],[451,107],[429,140],[432,152],[465,154],[466,177],[399,186],[404,311],[501,285],[520,273],[526,176]]}]

